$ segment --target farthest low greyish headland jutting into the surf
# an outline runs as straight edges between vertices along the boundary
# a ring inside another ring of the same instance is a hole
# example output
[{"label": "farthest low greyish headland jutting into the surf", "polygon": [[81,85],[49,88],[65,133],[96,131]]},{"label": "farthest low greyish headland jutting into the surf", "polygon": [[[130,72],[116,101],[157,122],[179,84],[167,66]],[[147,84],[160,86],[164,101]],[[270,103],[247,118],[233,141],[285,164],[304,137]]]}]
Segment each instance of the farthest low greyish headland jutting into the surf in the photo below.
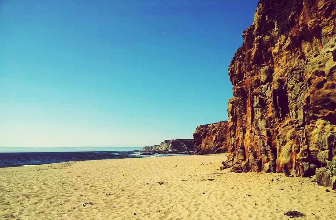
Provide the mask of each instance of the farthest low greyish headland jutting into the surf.
[{"label": "farthest low greyish headland jutting into the surf", "polygon": [[165,140],[160,145],[143,146],[142,152],[154,153],[192,153],[194,150],[194,139]]}]

